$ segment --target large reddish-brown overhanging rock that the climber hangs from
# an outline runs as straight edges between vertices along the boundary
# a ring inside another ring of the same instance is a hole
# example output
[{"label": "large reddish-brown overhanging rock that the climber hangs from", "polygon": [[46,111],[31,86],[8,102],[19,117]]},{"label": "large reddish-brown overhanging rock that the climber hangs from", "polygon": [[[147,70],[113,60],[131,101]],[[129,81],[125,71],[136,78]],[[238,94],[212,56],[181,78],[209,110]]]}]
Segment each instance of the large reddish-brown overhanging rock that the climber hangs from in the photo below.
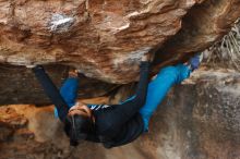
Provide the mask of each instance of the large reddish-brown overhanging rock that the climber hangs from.
[{"label": "large reddish-brown overhanging rock that the climber hangs from", "polygon": [[0,62],[70,64],[89,77],[129,83],[142,54],[170,37],[167,54],[157,56],[164,64],[204,49],[228,30],[239,7],[239,0],[3,0]]}]

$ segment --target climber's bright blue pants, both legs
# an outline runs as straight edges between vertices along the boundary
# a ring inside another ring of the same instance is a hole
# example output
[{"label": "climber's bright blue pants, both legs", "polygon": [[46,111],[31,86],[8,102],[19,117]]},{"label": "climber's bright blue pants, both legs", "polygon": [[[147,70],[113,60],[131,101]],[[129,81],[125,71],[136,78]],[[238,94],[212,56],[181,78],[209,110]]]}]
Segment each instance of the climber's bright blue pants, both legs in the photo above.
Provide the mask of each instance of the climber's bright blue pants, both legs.
[{"label": "climber's bright blue pants, both legs", "polygon": [[[167,95],[168,90],[175,85],[180,84],[183,80],[188,78],[190,75],[190,69],[183,64],[178,64],[176,66],[166,66],[160,70],[157,77],[154,78],[147,88],[147,97],[145,105],[140,109],[140,114],[144,121],[144,130],[148,130],[148,122],[157,106],[161,102],[164,97]],[[68,78],[61,89],[60,94],[71,108],[76,100],[79,87],[79,78]],[[127,99],[125,101],[134,99],[134,96]],[[123,101],[122,103],[124,103]],[[55,111],[57,115],[57,110]]]}]

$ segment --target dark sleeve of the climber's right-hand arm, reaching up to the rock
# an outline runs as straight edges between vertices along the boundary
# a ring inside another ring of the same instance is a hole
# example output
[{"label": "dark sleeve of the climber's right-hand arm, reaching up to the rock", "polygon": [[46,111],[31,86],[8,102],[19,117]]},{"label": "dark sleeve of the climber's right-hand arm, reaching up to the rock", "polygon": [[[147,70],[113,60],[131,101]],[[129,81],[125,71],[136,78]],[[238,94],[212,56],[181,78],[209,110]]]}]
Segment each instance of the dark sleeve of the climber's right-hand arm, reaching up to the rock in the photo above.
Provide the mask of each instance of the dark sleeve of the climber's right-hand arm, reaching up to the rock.
[{"label": "dark sleeve of the climber's right-hand arm, reaching up to the rock", "polygon": [[123,105],[115,105],[115,109],[107,109],[98,117],[101,127],[100,133],[112,137],[118,133],[125,122],[131,120],[140,108],[145,103],[148,85],[148,62],[141,63],[140,82],[136,88],[136,96],[133,100]]}]

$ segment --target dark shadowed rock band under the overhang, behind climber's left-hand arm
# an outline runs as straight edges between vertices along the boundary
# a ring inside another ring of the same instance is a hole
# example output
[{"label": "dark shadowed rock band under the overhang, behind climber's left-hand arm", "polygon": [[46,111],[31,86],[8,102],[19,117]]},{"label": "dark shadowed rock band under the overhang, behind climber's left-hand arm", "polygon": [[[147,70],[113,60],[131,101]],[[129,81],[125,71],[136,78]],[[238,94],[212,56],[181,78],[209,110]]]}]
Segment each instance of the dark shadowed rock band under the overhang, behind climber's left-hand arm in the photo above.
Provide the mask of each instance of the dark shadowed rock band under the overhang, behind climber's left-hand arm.
[{"label": "dark shadowed rock band under the overhang, behind climber's left-hand arm", "polygon": [[[60,87],[68,76],[68,66],[47,65],[48,72],[55,84]],[[25,66],[0,64],[0,106],[13,103],[51,103],[44,94],[34,74]],[[118,85],[107,84],[97,80],[81,76],[79,98],[99,97],[111,93]]]}]

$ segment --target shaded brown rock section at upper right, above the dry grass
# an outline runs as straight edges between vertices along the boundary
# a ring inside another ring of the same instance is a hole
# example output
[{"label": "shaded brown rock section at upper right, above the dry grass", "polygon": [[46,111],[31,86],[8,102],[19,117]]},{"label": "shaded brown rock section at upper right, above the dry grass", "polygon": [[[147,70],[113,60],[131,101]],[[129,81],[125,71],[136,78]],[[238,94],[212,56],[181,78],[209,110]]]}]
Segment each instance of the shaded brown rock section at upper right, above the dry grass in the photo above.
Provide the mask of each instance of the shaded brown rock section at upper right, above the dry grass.
[{"label": "shaded brown rock section at upper right, above the dry grass", "polygon": [[158,50],[155,64],[160,66],[203,51],[226,35],[239,17],[240,1],[206,0],[193,7],[182,20],[182,28]]}]

